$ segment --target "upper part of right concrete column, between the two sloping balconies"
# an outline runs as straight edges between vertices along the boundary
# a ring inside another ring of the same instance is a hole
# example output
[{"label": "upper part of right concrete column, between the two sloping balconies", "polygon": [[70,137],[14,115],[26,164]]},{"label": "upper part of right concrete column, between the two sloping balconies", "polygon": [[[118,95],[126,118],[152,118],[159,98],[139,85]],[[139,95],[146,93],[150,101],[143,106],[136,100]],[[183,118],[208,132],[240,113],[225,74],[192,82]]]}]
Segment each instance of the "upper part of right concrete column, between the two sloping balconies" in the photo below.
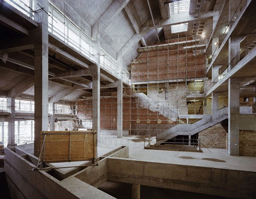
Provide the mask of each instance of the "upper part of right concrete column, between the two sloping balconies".
[{"label": "upper part of right concrete column, between the two sloping balconies", "polygon": [[233,69],[234,66],[236,66],[237,63],[240,61],[240,42],[243,40],[245,36],[236,36],[236,37],[230,37],[228,42],[228,71]]}]

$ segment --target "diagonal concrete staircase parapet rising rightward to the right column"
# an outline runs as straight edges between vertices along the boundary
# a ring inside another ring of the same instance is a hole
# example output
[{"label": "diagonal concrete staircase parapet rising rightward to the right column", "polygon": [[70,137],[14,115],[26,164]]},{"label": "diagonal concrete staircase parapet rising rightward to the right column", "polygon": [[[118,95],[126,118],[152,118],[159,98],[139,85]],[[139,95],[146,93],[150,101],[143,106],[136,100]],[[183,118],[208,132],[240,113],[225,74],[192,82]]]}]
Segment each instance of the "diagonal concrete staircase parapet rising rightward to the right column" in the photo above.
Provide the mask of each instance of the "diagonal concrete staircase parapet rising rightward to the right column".
[{"label": "diagonal concrete staircase parapet rising rightward to the right column", "polygon": [[195,122],[194,124],[177,124],[176,126],[170,128],[157,135],[157,141],[166,141],[167,139],[172,139],[178,135],[192,136],[195,133],[199,133],[224,119],[228,118],[228,107],[214,112],[211,115],[203,117],[201,120]]}]

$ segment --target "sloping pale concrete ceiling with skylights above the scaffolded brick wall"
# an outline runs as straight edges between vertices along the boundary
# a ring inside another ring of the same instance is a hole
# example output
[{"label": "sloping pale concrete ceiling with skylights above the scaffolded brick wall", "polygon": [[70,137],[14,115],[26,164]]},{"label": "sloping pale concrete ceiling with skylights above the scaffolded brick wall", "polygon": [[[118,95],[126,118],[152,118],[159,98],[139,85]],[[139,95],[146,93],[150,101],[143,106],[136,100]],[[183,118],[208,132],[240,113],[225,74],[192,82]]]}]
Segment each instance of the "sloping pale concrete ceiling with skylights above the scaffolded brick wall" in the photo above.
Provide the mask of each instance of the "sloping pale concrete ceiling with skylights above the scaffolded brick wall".
[{"label": "sloping pale concrete ceiling with skylights above the scaffolded brick wall", "polygon": [[[166,0],[81,0],[76,3],[66,0],[60,4],[63,7],[66,3],[66,6],[76,10],[91,27],[87,30],[88,35],[98,32],[102,36],[105,51],[113,58],[122,57],[125,65],[129,66],[137,57],[136,50],[139,47],[158,41],[157,32],[160,40],[177,38],[178,34],[179,37],[210,34],[210,12],[219,10],[220,1],[191,0],[189,13],[185,14],[185,18],[184,14],[170,15],[169,4],[164,6]],[[184,20],[189,23],[188,31],[172,34],[171,25],[183,23]]]}]

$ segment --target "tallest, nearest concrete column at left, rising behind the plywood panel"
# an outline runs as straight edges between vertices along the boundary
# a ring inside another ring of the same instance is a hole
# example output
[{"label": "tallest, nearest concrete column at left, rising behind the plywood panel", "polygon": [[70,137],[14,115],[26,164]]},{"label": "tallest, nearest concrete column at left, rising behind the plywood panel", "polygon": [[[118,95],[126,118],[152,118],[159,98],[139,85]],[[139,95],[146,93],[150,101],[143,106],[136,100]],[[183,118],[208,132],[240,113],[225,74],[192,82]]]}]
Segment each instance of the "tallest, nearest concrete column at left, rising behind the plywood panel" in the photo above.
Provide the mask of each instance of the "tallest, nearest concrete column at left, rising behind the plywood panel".
[{"label": "tallest, nearest concrete column at left, rising behind the plywood panel", "polygon": [[[40,133],[48,130],[48,2],[39,3],[44,10],[35,12],[38,28],[35,37],[35,147],[34,155],[40,155]],[[37,5],[37,2],[35,3]],[[42,5],[43,4],[43,5]],[[45,12],[44,12],[45,11]]]}]

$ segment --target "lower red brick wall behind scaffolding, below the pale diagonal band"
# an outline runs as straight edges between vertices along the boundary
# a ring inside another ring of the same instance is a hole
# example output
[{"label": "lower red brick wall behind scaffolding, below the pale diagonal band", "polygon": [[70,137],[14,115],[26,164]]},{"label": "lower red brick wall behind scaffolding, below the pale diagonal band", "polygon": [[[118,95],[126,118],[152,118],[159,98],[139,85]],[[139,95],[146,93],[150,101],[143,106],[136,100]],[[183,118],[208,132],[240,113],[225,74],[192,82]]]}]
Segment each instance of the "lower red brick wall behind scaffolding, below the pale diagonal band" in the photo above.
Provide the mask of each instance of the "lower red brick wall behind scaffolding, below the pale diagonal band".
[{"label": "lower red brick wall behind scaffolding, below the pale diagonal band", "polygon": [[[92,119],[92,100],[78,101],[78,116],[80,119]],[[168,118],[159,115],[157,112],[152,112],[142,107],[138,107],[135,98],[123,98],[123,130],[131,130],[131,134],[137,132],[132,126],[137,124],[137,119],[140,119],[141,124],[148,124],[147,119],[150,119],[151,125],[169,125]],[[157,119],[161,123],[157,123]],[[117,128],[117,99],[102,98],[100,100],[100,128],[106,130],[116,130]],[[172,125],[177,124],[173,122]],[[136,126],[136,125],[135,125]],[[134,127],[135,127],[134,126]]]}]

